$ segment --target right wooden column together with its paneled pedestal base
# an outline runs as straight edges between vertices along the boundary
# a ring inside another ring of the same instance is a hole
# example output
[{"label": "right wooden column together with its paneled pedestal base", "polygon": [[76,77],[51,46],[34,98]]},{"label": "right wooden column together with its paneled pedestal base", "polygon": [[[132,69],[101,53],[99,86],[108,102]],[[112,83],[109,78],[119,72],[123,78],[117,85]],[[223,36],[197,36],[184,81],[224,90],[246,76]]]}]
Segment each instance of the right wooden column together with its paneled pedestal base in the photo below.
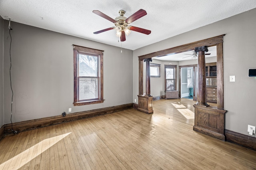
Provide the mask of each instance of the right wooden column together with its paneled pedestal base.
[{"label": "right wooden column together with its paneled pedestal base", "polygon": [[207,134],[220,140],[225,140],[224,136],[224,113],[225,110],[216,109],[206,103],[206,70],[205,54],[206,46],[195,48],[198,52],[198,93],[195,108],[195,125],[193,130]]}]

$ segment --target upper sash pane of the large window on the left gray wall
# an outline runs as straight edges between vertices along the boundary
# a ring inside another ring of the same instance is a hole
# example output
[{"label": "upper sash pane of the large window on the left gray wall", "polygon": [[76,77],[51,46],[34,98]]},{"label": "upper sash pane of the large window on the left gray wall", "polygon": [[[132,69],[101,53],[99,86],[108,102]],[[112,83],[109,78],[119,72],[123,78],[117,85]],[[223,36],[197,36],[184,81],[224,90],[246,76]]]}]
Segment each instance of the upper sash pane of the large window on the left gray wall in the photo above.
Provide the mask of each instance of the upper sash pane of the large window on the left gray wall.
[{"label": "upper sash pane of the large window on the left gray wall", "polygon": [[98,77],[98,57],[79,53],[78,76]]}]

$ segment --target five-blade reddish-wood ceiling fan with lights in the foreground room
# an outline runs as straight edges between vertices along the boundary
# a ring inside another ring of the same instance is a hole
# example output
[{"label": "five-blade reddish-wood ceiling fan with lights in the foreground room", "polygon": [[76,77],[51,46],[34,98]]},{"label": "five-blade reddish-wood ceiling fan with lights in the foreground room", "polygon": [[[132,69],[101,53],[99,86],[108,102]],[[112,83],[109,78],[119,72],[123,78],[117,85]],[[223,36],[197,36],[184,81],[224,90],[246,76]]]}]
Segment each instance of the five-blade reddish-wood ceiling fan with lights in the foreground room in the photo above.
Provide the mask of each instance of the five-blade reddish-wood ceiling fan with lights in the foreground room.
[{"label": "five-blade reddish-wood ceiling fan with lights in the foreground room", "polygon": [[124,17],[125,11],[120,10],[118,13],[120,16],[116,17],[115,19],[110,18],[106,14],[103,14],[102,12],[98,10],[92,11],[94,14],[97,14],[98,16],[101,16],[102,18],[105,18],[106,20],[109,20],[110,22],[113,22],[115,24],[115,27],[106,28],[104,30],[100,30],[97,32],[94,32],[93,34],[99,34],[108,30],[115,29],[116,30],[116,36],[120,38],[121,42],[124,42],[126,40],[125,34],[128,36],[132,31],[140,32],[142,34],[150,34],[150,30],[146,30],[143,28],[135,27],[135,26],[129,26],[132,22],[138,20],[142,16],[145,16],[147,12],[145,10],[138,10],[128,18]]}]

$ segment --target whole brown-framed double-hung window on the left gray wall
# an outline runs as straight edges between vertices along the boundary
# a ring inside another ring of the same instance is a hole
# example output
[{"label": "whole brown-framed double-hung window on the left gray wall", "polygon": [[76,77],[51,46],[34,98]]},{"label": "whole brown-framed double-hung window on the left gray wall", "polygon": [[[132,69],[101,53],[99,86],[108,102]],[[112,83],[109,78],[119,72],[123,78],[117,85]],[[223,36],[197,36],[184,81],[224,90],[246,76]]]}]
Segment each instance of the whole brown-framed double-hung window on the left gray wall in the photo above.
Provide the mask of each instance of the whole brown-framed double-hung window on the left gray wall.
[{"label": "whole brown-framed double-hung window on the left gray wall", "polygon": [[74,46],[74,106],[103,103],[103,51]]}]

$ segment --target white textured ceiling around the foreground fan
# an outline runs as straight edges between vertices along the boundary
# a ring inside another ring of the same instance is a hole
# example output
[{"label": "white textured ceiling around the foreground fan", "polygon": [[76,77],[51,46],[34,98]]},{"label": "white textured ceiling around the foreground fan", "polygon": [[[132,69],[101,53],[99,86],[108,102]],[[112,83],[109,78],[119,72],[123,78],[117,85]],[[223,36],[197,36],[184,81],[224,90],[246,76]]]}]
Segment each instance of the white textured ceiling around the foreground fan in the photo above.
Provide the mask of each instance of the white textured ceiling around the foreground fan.
[{"label": "white textured ceiling around the foreground fan", "polygon": [[129,17],[141,8],[147,15],[131,25],[152,32],[132,31],[123,48],[138,49],[234,16],[256,8],[256,0],[0,0],[0,15],[6,20],[118,47],[115,30],[93,34],[114,24],[92,10],[114,19],[119,10]]}]

